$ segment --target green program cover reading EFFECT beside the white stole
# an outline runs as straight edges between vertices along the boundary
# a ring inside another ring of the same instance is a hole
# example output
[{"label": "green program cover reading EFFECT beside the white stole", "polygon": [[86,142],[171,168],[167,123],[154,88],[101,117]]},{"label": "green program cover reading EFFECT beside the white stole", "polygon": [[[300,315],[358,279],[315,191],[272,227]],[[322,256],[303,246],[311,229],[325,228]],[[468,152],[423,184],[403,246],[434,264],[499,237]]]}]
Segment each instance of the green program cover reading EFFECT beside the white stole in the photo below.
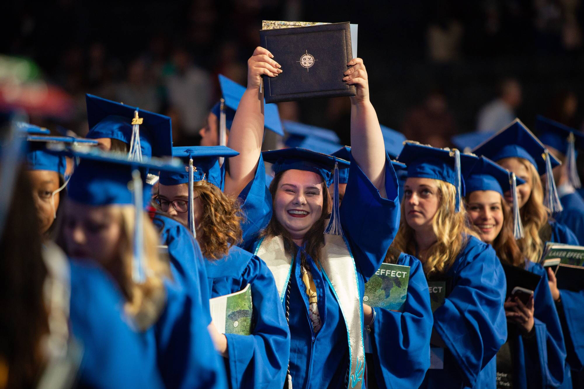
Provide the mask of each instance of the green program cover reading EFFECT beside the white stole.
[{"label": "green program cover reading EFFECT beside the white stole", "polygon": [[409,266],[382,263],[365,284],[363,303],[370,307],[404,311],[408,296]]}]

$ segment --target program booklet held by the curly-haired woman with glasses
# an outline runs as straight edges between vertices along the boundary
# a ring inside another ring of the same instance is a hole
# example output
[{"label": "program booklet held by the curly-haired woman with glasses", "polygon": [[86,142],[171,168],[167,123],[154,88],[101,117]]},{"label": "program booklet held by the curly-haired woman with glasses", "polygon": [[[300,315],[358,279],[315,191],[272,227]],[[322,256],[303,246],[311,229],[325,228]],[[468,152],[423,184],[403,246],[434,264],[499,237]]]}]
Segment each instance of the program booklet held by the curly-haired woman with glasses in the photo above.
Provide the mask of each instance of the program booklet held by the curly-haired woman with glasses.
[{"label": "program booklet held by the curly-haired woman with glasses", "polygon": [[209,300],[211,319],[220,334],[249,335],[252,332],[252,291],[244,289]]}]

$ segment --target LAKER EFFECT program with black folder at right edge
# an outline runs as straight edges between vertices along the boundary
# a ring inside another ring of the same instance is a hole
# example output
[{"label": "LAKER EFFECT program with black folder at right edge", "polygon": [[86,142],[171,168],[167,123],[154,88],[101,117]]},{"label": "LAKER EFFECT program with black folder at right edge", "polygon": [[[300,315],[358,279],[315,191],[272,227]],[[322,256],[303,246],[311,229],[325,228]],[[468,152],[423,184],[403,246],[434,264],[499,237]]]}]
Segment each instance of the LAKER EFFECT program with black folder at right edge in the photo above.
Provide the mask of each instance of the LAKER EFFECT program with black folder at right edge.
[{"label": "LAKER EFFECT program with black folder at right edge", "polygon": [[541,264],[555,268],[558,289],[584,289],[584,246],[547,242]]}]

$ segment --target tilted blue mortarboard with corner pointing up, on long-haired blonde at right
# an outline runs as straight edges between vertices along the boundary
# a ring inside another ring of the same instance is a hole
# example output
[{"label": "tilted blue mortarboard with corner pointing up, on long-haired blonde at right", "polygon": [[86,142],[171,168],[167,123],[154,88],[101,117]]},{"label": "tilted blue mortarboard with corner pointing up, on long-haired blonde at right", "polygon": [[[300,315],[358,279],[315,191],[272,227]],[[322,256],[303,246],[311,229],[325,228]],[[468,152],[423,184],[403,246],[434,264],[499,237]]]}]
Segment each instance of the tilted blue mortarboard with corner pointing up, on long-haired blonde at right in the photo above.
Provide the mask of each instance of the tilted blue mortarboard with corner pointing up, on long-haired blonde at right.
[{"label": "tilted blue mortarboard with corner pointing up, on long-haired blonde at right", "polygon": [[[472,152],[495,162],[513,157],[527,159],[540,175],[545,174],[545,146],[519,119],[513,120],[509,126],[478,145]],[[559,161],[552,155],[550,162],[552,168],[559,165]]]}]

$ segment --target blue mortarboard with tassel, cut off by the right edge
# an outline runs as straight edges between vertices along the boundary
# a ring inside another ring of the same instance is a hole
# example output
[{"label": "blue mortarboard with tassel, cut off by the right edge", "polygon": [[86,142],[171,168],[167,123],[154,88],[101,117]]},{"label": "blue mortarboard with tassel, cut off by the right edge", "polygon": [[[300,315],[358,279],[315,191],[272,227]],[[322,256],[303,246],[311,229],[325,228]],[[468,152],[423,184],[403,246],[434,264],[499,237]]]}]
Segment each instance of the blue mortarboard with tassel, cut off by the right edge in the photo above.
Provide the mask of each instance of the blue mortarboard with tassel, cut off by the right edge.
[{"label": "blue mortarboard with tassel, cut off by the right edge", "polygon": [[576,150],[584,148],[584,134],[541,115],[536,118],[536,128],[540,132],[541,143],[555,148],[566,156],[566,169],[572,186],[582,187],[576,166]]}]

